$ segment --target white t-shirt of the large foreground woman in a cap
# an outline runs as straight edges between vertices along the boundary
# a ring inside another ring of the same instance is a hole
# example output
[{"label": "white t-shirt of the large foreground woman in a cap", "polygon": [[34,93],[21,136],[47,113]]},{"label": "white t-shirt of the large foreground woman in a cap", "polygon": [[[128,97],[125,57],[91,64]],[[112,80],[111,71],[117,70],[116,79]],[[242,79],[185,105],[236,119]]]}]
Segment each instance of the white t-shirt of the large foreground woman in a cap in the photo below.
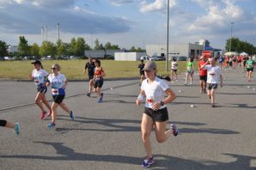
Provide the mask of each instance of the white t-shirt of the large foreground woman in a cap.
[{"label": "white t-shirt of the large foreground woman in a cap", "polygon": [[[141,89],[146,94],[146,107],[152,108],[154,103],[164,100],[165,91],[169,88],[168,84],[162,79],[155,77],[155,81],[149,84],[149,79],[145,79]],[[166,106],[161,106],[160,109]]]}]

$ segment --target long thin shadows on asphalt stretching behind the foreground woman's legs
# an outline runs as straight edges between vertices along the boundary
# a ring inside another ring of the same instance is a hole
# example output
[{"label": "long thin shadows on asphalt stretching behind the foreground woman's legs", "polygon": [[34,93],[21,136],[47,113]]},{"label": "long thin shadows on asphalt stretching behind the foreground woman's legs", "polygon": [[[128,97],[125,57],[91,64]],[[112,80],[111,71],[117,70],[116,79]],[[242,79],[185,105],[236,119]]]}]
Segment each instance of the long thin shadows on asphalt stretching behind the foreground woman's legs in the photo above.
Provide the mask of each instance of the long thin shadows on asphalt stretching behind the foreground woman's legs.
[{"label": "long thin shadows on asphalt stretching behind the foreground woman's legs", "polygon": [[[66,117],[65,115],[60,115],[60,117]],[[64,120],[64,118],[59,118]],[[56,128],[56,131],[107,131],[107,132],[118,132],[118,131],[140,131],[140,120],[127,120],[127,119],[103,119],[103,118],[82,118],[76,117],[76,122],[81,124],[100,124],[103,126],[107,126],[107,128],[112,129],[82,129],[82,128]],[[122,124],[135,124],[135,126],[131,125],[122,125]],[[191,125],[191,126],[200,126],[206,125],[202,123],[190,123],[190,122],[172,122],[172,124],[183,124],[183,125]],[[229,130],[221,130],[221,129],[194,129],[194,128],[180,128],[180,134],[184,133],[209,133],[209,134],[219,134],[219,135],[235,135],[240,134],[238,131],[229,131]]]}]

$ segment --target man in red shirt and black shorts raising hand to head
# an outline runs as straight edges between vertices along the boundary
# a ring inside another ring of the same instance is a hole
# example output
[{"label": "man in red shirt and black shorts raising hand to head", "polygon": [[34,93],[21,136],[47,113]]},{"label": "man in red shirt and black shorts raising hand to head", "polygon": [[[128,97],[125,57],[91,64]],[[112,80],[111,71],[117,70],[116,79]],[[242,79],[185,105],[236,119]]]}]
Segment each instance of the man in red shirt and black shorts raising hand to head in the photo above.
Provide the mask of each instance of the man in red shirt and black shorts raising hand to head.
[{"label": "man in red shirt and black shorts raising hand to head", "polygon": [[206,82],[207,82],[207,70],[201,69],[201,67],[207,62],[206,56],[201,56],[201,60],[198,63],[199,80],[200,80],[200,94],[206,94]]}]

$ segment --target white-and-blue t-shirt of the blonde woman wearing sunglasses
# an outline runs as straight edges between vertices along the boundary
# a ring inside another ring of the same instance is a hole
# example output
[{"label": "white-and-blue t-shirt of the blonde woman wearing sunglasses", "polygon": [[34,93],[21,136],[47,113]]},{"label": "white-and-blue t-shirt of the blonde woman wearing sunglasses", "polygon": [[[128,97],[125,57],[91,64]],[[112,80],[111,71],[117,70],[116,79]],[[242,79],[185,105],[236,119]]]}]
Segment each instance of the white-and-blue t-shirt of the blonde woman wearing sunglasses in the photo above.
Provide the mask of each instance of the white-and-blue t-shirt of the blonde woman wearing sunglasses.
[{"label": "white-and-blue t-shirt of the blonde woman wearing sunglasses", "polygon": [[65,94],[66,77],[63,74],[58,74],[58,76],[51,74],[48,76],[48,80],[51,83],[52,95]]}]

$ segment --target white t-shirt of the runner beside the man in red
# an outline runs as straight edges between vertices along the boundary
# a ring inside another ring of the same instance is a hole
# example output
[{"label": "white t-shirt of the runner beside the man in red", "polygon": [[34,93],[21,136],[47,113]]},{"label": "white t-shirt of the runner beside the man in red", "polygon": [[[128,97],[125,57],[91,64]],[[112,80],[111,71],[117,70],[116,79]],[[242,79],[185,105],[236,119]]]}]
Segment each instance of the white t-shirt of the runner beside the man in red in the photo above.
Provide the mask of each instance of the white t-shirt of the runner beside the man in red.
[{"label": "white t-shirt of the runner beside the man in red", "polygon": [[221,74],[221,69],[219,66],[212,67],[210,64],[205,65],[204,69],[207,70],[207,83],[218,83],[218,77]]}]

